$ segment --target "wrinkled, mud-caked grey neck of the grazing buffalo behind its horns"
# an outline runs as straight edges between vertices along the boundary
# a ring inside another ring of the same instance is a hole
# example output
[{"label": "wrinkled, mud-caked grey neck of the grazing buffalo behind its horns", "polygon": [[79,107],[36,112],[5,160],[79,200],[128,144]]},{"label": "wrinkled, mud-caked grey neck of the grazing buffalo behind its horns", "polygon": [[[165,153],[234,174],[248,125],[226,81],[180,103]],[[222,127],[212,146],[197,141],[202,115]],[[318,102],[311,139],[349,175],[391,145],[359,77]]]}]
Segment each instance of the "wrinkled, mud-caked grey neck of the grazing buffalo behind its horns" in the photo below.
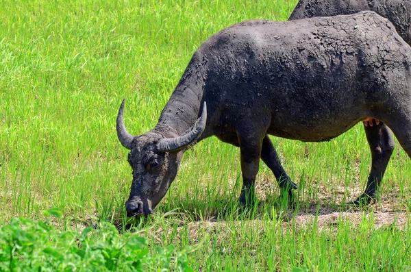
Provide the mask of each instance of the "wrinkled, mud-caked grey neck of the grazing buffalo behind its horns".
[{"label": "wrinkled, mud-caked grey neck of the grazing buffalo behind its horns", "polygon": [[202,110],[203,75],[200,71],[201,66],[196,62],[197,58],[193,56],[156,125],[169,127],[177,136],[182,136],[192,128]]}]

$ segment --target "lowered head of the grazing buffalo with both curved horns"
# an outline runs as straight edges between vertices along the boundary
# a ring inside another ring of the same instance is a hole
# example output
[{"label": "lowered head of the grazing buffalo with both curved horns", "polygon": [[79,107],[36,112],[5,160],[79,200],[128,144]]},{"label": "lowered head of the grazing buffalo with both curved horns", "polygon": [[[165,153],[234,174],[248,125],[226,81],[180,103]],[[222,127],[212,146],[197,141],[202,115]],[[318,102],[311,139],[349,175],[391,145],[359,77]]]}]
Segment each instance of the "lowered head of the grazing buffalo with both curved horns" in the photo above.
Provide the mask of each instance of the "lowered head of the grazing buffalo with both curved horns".
[{"label": "lowered head of the grazing buffalo with both curved horns", "polygon": [[[117,115],[117,136],[121,145],[130,150],[133,181],[129,199],[125,202],[127,216],[150,214],[166,195],[175,179],[184,150],[201,136],[207,119],[206,103],[194,127],[182,136],[166,132],[161,127],[140,136],[127,132],[123,119],[124,102]],[[170,138],[173,137],[173,138]]]}]

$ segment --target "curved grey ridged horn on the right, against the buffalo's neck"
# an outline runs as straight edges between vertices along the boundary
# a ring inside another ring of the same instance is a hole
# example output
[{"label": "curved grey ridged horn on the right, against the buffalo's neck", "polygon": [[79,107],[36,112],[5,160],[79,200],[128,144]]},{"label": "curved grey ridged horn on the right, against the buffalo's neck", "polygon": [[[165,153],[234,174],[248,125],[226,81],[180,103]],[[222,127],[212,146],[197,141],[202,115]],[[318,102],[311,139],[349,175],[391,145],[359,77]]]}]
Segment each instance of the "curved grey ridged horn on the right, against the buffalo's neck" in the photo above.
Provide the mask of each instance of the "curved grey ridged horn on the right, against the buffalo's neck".
[{"label": "curved grey ridged horn on the right, against the buffalo's neck", "polygon": [[204,102],[203,112],[201,112],[200,118],[197,119],[194,127],[190,130],[190,132],[176,138],[167,138],[159,140],[157,144],[157,151],[170,152],[184,149],[184,147],[187,147],[188,145],[193,143],[201,136],[201,134],[203,134],[203,131],[206,128],[206,121],[207,104],[206,102]]}]

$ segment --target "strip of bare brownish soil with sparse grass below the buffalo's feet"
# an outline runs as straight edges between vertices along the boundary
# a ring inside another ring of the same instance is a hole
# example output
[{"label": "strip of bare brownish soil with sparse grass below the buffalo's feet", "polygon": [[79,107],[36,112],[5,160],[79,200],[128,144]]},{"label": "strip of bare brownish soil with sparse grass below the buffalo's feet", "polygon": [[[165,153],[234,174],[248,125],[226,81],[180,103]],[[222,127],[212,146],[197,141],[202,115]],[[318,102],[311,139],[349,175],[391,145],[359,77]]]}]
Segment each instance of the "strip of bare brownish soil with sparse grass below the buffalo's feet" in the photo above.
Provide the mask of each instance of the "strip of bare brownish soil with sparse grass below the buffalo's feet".
[{"label": "strip of bare brownish soil with sparse grass below the buffalo's feet", "polygon": [[[364,220],[373,223],[375,229],[382,227],[395,226],[400,230],[406,230],[410,216],[406,210],[395,210],[390,208],[390,205],[384,203],[376,203],[367,208],[367,210],[349,208],[344,211],[337,211],[332,208],[323,206],[321,208],[313,208],[303,212],[290,212],[289,214],[280,215],[278,221],[267,222],[260,219],[252,220],[235,220],[235,221],[216,221],[208,219],[203,221],[192,221],[190,223],[181,221],[177,228],[163,229],[162,227],[152,233],[154,236],[167,233],[167,236],[173,236],[177,241],[182,237],[188,237],[190,243],[195,245],[201,243],[203,233],[206,232],[210,236],[219,236],[219,240],[229,240],[230,235],[234,230],[246,229],[247,232],[255,233],[256,235],[264,233],[269,229],[279,231],[298,231],[307,229],[314,223],[318,226],[318,230],[336,230],[338,223],[351,223],[354,227],[358,227]],[[172,234],[173,233],[173,234]]]}]

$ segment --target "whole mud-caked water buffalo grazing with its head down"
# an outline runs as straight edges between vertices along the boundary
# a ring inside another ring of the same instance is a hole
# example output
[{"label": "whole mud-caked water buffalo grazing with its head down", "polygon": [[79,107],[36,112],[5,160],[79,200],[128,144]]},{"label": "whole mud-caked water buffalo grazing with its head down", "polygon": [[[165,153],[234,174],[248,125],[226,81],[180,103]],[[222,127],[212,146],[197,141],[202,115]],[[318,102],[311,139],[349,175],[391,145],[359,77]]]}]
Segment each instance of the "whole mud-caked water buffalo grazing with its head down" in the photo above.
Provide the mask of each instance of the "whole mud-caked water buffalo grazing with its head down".
[{"label": "whole mud-caked water buffalo grazing with its head down", "polygon": [[375,12],[223,29],[194,53],[149,132],[127,132],[121,103],[117,135],[133,170],[127,214],[151,213],[199,140],[214,135],[240,147],[240,203],[249,203],[260,158],[279,186],[296,188],[269,134],[322,142],[368,117],[384,123],[365,127],[372,166],[356,201],[375,196],[394,149],[390,129],[411,155],[410,65],[411,48]]}]

